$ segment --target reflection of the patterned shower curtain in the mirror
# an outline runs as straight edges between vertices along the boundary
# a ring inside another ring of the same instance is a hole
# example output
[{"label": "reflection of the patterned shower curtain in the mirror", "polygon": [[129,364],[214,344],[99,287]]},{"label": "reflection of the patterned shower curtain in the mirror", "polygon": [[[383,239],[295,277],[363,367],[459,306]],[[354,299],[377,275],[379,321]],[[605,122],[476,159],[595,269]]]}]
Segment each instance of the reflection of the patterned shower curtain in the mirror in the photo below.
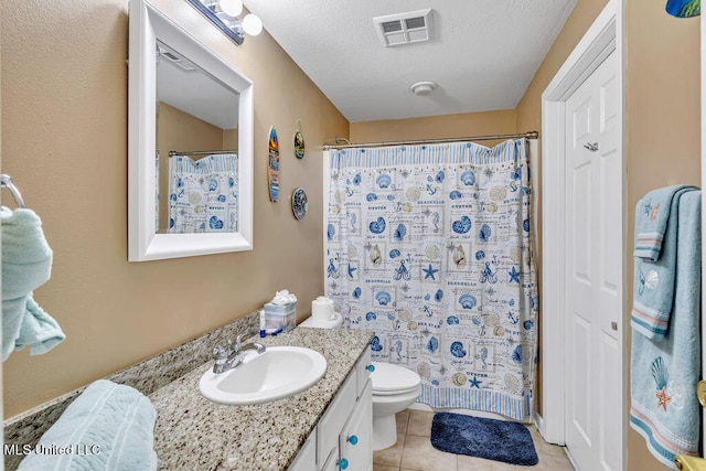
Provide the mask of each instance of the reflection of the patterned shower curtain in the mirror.
[{"label": "reflection of the patterned shower curtain in the mirror", "polygon": [[169,232],[238,232],[238,157],[169,159]]}]

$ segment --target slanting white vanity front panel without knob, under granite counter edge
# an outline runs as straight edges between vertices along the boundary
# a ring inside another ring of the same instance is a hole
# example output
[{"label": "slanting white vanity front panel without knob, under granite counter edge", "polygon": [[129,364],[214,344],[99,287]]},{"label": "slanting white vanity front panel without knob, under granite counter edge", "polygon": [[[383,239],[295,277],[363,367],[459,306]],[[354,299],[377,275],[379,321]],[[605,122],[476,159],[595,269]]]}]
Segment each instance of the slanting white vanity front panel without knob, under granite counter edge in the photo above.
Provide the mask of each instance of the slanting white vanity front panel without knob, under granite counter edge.
[{"label": "slanting white vanity front panel without knob, under granite counter edge", "polygon": [[329,405],[317,427],[317,463],[323,463],[333,448],[339,445],[339,433],[349,419],[357,398],[357,375],[351,372],[339,389],[339,394]]}]

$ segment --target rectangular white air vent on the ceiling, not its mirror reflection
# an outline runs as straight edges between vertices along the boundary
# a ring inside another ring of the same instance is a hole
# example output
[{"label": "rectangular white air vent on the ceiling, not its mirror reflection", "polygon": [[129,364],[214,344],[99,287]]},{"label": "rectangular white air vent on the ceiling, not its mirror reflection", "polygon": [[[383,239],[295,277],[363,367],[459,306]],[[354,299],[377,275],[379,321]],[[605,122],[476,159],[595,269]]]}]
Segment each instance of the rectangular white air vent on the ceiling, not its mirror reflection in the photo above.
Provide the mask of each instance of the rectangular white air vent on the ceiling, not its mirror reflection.
[{"label": "rectangular white air vent on the ceiling, not its mirror reflection", "polygon": [[431,9],[375,17],[373,22],[384,46],[418,43],[431,38]]}]

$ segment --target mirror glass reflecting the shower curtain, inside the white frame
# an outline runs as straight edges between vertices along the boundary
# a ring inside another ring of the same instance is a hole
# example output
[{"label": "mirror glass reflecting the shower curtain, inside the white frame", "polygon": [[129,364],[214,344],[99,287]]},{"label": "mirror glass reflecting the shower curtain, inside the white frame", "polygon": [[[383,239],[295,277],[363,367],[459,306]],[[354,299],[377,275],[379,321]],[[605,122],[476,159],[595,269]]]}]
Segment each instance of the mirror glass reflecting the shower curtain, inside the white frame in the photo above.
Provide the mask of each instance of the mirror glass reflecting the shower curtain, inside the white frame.
[{"label": "mirror glass reflecting the shower curtain, inside the white frame", "polygon": [[238,99],[157,42],[156,233],[238,232]]}]

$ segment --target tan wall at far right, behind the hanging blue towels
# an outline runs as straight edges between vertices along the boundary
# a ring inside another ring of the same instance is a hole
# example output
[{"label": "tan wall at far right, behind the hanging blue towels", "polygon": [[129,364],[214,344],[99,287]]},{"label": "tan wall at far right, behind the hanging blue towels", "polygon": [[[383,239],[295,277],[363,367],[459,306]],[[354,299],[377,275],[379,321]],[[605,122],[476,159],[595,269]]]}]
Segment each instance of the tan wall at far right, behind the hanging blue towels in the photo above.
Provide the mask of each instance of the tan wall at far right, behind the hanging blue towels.
[{"label": "tan wall at far right, behind the hanging blue towels", "polygon": [[[643,1],[628,0],[629,235],[634,232],[635,204],[646,192],[677,183],[700,185],[699,19],[670,17],[663,3],[645,8]],[[628,237],[629,287],[633,247]],[[652,458],[632,429],[628,453],[630,470],[668,469]]]}]

